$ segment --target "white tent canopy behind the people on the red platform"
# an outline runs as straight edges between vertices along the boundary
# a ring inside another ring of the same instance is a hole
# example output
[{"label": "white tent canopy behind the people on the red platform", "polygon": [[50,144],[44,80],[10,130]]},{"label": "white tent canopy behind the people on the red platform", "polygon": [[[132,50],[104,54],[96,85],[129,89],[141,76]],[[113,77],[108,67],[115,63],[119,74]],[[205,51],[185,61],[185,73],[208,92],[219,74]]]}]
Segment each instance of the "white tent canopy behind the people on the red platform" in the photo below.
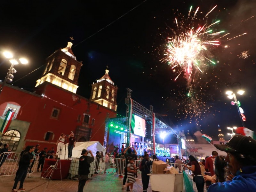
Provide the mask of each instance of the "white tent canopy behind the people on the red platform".
[{"label": "white tent canopy behind the people on the red platform", "polygon": [[[66,149],[66,155],[65,155],[65,149]],[[76,142],[76,147],[74,147],[72,150],[72,157],[73,158],[80,157],[83,149],[92,151],[92,154],[94,157],[96,156],[97,151],[102,151],[103,154],[105,153],[105,148],[100,144],[99,141]],[[62,154],[60,155],[60,159],[67,159],[67,158],[68,158],[68,143],[66,145],[63,145]]]}]

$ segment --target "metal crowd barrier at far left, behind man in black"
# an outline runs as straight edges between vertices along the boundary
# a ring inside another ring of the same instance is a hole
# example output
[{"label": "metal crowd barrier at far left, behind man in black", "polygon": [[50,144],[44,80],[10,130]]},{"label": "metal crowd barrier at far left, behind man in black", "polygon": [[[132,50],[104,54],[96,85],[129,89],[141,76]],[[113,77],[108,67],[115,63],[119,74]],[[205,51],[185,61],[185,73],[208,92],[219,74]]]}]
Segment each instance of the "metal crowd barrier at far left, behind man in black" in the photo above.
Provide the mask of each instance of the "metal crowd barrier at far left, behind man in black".
[{"label": "metal crowd barrier at far left, behind man in black", "polygon": [[[6,156],[6,158],[3,158]],[[28,167],[28,176],[37,170],[38,154],[35,154],[34,161]],[[13,176],[19,168],[20,153],[4,152],[0,155],[0,177]]]}]

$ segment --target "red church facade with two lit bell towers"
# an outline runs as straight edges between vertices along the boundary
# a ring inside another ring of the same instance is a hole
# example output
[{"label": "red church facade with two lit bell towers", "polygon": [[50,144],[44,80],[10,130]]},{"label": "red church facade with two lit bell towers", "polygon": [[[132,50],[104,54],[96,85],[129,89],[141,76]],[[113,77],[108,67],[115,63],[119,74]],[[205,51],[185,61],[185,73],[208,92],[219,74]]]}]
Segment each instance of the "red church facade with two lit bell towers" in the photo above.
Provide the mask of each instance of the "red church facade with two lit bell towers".
[{"label": "red church facade with two lit bell towers", "polygon": [[[69,135],[71,131],[76,141],[99,141],[103,145],[105,121],[116,117],[117,87],[106,70],[100,82],[93,84],[90,99],[77,95],[77,76],[82,64],[76,61],[71,46],[64,49],[69,54],[62,49],[48,58],[35,92],[4,86],[0,94],[0,124],[9,108],[13,108],[15,114],[0,142],[8,142],[12,151],[20,152],[24,146],[36,144],[54,147],[56,151],[55,143],[60,134]],[[54,55],[57,56],[54,58]]]}]

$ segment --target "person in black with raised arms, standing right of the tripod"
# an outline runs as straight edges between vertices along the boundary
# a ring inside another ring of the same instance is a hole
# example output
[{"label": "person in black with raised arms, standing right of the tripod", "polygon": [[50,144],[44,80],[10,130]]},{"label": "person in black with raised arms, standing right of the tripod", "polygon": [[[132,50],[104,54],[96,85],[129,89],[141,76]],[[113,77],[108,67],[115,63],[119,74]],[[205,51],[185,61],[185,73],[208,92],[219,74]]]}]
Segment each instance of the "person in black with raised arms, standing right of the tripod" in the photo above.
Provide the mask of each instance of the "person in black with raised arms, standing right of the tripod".
[{"label": "person in black with raised arms, standing right of the tripod", "polygon": [[[87,156],[88,153],[91,156]],[[83,192],[84,185],[86,180],[88,179],[88,175],[90,173],[90,163],[94,161],[94,156],[92,155],[92,151],[87,151],[86,149],[82,150],[81,157],[79,158],[79,168],[78,168],[78,191]]]}]

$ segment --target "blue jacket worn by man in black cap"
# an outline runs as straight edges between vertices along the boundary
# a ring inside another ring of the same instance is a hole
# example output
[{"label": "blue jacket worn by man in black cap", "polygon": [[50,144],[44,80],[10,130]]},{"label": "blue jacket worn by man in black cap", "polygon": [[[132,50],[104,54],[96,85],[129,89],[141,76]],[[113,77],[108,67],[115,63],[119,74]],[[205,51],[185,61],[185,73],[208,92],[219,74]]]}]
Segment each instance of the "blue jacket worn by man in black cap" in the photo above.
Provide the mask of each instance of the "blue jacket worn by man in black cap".
[{"label": "blue jacket worn by man in black cap", "polygon": [[210,185],[207,192],[234,192],[234,191],[256,191],[256,166],[243,167],[242,172],[238,170],[232,181],[215,183]]}]

